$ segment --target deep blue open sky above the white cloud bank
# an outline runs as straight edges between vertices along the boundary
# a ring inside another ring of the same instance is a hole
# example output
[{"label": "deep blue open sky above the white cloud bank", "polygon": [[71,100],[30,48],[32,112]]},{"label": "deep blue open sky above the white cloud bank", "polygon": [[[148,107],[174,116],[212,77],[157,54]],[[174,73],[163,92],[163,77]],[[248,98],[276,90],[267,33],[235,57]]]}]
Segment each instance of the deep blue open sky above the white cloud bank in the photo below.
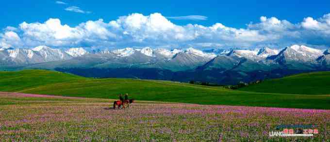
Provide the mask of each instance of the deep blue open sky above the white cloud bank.
[{"label": "deep blue open sky above the white cloud bank", "polygon": [[[234,28],[245,28],[249,22],[258,22],[260,16],[276,16],[292,23],[304,17],[321,17],[330,13],[329,0],[60,0],[67,4],[56,4],[56,0],[6,0],[0,5],[3,17],[0,28],[16,27],[26,21],[43,22],[49,18],[60,18],[70,26],[87,20],[105,21],[132,13],[144,15],[161,13],[164,16],[203,15],[205,21],[171,20],[175,24],[196,23],[211,26],[222,23]],[[19,3],[19,4],[17,4]],[[77,14],[64,9],[78,6],[91,14]]]}]

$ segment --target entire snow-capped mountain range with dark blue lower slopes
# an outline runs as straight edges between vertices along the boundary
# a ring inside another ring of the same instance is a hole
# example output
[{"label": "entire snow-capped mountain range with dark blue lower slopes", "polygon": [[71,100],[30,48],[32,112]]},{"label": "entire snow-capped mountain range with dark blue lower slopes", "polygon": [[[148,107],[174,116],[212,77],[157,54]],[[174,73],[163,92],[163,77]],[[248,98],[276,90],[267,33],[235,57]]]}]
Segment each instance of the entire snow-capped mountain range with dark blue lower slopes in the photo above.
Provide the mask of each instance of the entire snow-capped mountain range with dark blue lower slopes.
[{"label": "entire snow-capped mountain range with dark blue lower slopes", "polygon": [[38,46],[0,48],[0,69],[48,69],[87,77],[128,77],[237,84],[330,69],[330,50],[292,45],[281,50],[124,48],[86,51]]}]

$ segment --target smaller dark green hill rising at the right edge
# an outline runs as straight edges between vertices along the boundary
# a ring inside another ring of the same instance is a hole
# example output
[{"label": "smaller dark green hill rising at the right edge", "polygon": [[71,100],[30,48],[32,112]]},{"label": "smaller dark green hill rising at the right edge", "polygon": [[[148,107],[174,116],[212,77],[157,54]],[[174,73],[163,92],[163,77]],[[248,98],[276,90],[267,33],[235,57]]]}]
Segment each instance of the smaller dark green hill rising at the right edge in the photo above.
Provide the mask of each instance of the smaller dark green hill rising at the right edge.
[{"label": "smaller dark green hill rising at the right edge", "polygon": [[266,80],[239,90],[285,94],[330,94],[330,71],[302,73]]}]

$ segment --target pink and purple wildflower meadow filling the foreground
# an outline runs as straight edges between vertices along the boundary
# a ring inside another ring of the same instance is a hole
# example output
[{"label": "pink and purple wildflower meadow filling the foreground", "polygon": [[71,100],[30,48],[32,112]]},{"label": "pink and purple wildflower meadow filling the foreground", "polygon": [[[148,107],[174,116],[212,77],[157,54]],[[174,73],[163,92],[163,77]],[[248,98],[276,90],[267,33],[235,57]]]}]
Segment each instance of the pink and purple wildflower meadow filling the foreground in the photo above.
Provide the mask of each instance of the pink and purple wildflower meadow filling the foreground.
[{"label": "pink and purple wildflower meadow filling the foreground", "polygon": [[[1,141],[329,141],[330,110],[0,94]],[[313,124],[314,137],[269,137],[278,125]]]}]

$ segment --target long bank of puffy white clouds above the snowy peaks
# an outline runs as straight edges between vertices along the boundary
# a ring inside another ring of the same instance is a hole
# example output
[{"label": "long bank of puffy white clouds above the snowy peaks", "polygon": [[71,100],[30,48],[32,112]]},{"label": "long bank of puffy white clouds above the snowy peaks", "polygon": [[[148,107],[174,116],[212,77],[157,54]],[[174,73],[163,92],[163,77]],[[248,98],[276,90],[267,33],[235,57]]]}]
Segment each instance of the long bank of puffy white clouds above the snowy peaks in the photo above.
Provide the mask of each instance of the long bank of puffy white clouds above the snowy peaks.
[{"label": "long bank of puffy white clouds above the snowy peaks", "polygon": [[293,24],[276,17],[260,17],[260,22],[247,28],[232,28],[221,23],[212,26],[176,25],[159,13],[130,14],[106,22],[86,21],[76,27],[50,18],[39,23],[23,22],[19,27],[7,27],[0,34],[0,46],[33,47],[255,47],[282,48],[290,44],[315,47],[330,44],[330,14],[314,19],[306,17]]}]

